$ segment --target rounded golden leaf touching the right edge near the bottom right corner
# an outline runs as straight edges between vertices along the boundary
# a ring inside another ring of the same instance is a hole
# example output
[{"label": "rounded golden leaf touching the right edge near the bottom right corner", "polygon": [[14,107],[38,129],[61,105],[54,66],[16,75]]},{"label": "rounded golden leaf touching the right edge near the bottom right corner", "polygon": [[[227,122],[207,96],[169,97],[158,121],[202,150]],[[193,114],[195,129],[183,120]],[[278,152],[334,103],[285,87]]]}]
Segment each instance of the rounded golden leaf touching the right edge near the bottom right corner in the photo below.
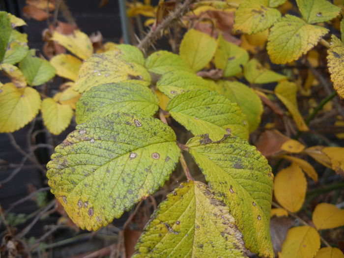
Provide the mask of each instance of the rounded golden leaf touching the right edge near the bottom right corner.
[{"label": "rounded golden leaf touching the right edge near the bottom right corner", "polygon": [[316,229],[333,229],[344,225],[344,209],[330,203],[316,205],[312,221]]}]

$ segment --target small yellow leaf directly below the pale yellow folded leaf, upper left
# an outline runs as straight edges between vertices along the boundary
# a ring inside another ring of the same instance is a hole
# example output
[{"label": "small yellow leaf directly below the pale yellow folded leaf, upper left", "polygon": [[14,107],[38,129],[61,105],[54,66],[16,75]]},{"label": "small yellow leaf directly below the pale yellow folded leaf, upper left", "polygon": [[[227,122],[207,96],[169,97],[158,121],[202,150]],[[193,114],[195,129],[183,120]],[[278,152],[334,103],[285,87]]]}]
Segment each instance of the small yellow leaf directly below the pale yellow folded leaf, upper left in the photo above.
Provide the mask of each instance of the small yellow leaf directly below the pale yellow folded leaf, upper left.
[{"label": "small yellow leaf directly below the pale yellow folded leaf, upper left", "polygon": [[57,75],[63,78],[76,81],[82,61],[72,55],[60,54],[53,57],[50,63],[57,70]]}]

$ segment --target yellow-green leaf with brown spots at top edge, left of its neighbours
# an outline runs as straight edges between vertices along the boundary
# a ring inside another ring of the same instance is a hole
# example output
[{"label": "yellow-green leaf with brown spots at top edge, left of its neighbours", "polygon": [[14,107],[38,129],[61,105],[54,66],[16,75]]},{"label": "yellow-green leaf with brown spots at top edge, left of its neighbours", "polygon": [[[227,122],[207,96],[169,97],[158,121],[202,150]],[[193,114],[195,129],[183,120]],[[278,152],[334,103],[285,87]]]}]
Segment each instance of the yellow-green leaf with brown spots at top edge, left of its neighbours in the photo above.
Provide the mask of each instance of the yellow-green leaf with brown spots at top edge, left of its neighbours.
[{"label": "yellow-green leaf with brown spots at top edge, left of its neighbours", "polygon": [[268,0],[243,0],[235,11],[234,30],[247,34],[270,28],[281,13],[268,7]]}]

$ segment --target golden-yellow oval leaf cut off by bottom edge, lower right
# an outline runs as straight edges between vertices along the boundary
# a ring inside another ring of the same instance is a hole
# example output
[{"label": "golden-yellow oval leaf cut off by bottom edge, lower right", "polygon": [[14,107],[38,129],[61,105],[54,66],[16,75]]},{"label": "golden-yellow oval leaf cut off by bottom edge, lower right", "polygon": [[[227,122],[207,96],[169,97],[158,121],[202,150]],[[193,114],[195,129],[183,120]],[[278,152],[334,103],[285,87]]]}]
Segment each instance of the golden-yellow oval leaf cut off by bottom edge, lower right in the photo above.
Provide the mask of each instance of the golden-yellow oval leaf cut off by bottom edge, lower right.
[{"label": "golden-yellow oval leaf cut off by bottom edge, lower right", "polygon": [[288,230],[279,258],[313,258],[320,248],[319,233],[310,226]]}]

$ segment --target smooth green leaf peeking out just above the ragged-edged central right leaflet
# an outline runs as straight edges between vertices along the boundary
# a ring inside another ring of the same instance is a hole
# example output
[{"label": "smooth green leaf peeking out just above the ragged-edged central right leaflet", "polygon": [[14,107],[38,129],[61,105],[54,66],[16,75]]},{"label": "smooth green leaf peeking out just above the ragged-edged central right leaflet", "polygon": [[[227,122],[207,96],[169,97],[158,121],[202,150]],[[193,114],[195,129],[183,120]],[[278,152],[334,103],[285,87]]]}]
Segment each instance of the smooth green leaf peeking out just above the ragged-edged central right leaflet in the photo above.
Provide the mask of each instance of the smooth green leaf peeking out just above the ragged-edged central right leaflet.
[{"label": "smooth green leaf peeking out just above the ragged-edged central right leaflet", "polygon": [[183,71],[172,71],[164,74],[156,86],[169,98],[191,89],[211,89],[210,83],[200,76]]}]

